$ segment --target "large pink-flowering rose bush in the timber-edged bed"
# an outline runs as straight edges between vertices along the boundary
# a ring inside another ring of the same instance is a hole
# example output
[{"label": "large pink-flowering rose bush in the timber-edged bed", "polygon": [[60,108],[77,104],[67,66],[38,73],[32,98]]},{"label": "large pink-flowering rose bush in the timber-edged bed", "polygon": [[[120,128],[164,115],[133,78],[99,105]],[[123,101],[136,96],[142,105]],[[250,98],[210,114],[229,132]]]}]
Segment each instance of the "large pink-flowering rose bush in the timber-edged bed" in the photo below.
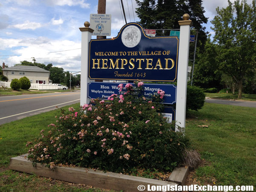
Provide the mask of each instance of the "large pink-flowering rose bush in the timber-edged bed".
[{"label": "large pink-flowering rose bush in the timber-edged bed", "polygon": [[188,140],[158,112],[162,105],[154,101],[164,92],[146,99],[143,83],[124,88],[124,95],[113,94],[107,101],[94,99],[80,109],[61,110],[49,125],[51,131],[42,130],[35,143],[27,143],[32,144],[28,158],[50,168],[67,164],[111,172],[134,167],[171,171],[182,161]]}]

